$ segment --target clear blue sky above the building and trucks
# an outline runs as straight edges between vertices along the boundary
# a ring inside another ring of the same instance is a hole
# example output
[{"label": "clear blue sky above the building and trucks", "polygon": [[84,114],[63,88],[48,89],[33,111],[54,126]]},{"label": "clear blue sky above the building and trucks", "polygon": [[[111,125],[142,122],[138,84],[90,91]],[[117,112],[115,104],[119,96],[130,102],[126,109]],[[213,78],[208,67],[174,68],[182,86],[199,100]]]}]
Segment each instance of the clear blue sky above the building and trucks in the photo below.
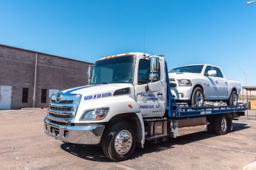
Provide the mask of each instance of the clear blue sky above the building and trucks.
[{"label": "clear blue sky above the building and trucks", "polygon": [[0,1],[0,43],[94,63],[164,54],[168,69],[210,63],[256,86],[256,3],[246,0]]}]

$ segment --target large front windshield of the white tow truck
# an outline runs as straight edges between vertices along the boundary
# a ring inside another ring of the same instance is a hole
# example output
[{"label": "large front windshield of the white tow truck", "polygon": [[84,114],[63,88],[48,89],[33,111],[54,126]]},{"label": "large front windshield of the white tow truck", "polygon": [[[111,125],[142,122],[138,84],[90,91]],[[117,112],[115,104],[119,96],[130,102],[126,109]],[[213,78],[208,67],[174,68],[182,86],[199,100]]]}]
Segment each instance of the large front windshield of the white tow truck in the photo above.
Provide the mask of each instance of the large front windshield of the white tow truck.
[{"label": "large front windshield of the white tow truck", "polygon": [[102,59],[95,63],[91,84],[132,83],[135,56]]}]

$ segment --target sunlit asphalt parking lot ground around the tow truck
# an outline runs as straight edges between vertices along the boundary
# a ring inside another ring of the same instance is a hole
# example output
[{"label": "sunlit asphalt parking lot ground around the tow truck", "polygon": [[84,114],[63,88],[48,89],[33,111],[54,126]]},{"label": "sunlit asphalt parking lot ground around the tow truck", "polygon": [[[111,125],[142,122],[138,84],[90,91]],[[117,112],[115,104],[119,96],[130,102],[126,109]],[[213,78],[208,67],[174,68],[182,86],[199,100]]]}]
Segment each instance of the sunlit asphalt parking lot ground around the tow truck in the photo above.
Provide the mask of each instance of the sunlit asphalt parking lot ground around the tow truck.
[{"label": "sunlit asphalt parking lot ground around the tow truck", "polygon": [[233,121],[227,135],[184,135],[136,148],[111,162],[100,146],[68,145],[44,133],[47,110],[0,111],[0,169],[243,169],[256,161],[256,121]]}]

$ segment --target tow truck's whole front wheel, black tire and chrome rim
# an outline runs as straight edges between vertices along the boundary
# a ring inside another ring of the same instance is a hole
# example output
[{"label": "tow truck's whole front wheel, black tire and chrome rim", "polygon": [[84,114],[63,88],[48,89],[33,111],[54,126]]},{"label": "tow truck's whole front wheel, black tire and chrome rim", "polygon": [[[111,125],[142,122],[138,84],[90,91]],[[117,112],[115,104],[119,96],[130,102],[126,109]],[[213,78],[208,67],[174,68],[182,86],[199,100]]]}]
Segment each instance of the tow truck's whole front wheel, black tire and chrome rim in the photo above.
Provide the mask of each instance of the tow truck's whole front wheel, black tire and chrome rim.
[{"label": "tow truck's whole front wheel, black tire and chrome rim", "polygon": [[127,160],[136,148],[136,134],[129,123],[118,123],[106,130],[102,150],[106,157],[116,162]]}]

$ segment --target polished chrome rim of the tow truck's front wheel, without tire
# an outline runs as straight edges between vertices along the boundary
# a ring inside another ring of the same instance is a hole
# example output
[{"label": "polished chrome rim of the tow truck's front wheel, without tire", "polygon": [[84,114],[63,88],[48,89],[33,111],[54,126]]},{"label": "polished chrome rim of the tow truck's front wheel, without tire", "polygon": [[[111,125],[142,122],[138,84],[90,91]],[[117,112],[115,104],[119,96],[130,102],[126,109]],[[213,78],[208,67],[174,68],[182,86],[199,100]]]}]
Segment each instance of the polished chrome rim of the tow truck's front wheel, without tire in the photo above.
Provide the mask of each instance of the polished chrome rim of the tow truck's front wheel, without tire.
[{"label": "polished chrome rim of the tow truck's front wheel, without tire", "polygon": [[131,150],[132,135],[128,130],[121,130],[115,137],[115,150],[118,154],[124,155]]}]

